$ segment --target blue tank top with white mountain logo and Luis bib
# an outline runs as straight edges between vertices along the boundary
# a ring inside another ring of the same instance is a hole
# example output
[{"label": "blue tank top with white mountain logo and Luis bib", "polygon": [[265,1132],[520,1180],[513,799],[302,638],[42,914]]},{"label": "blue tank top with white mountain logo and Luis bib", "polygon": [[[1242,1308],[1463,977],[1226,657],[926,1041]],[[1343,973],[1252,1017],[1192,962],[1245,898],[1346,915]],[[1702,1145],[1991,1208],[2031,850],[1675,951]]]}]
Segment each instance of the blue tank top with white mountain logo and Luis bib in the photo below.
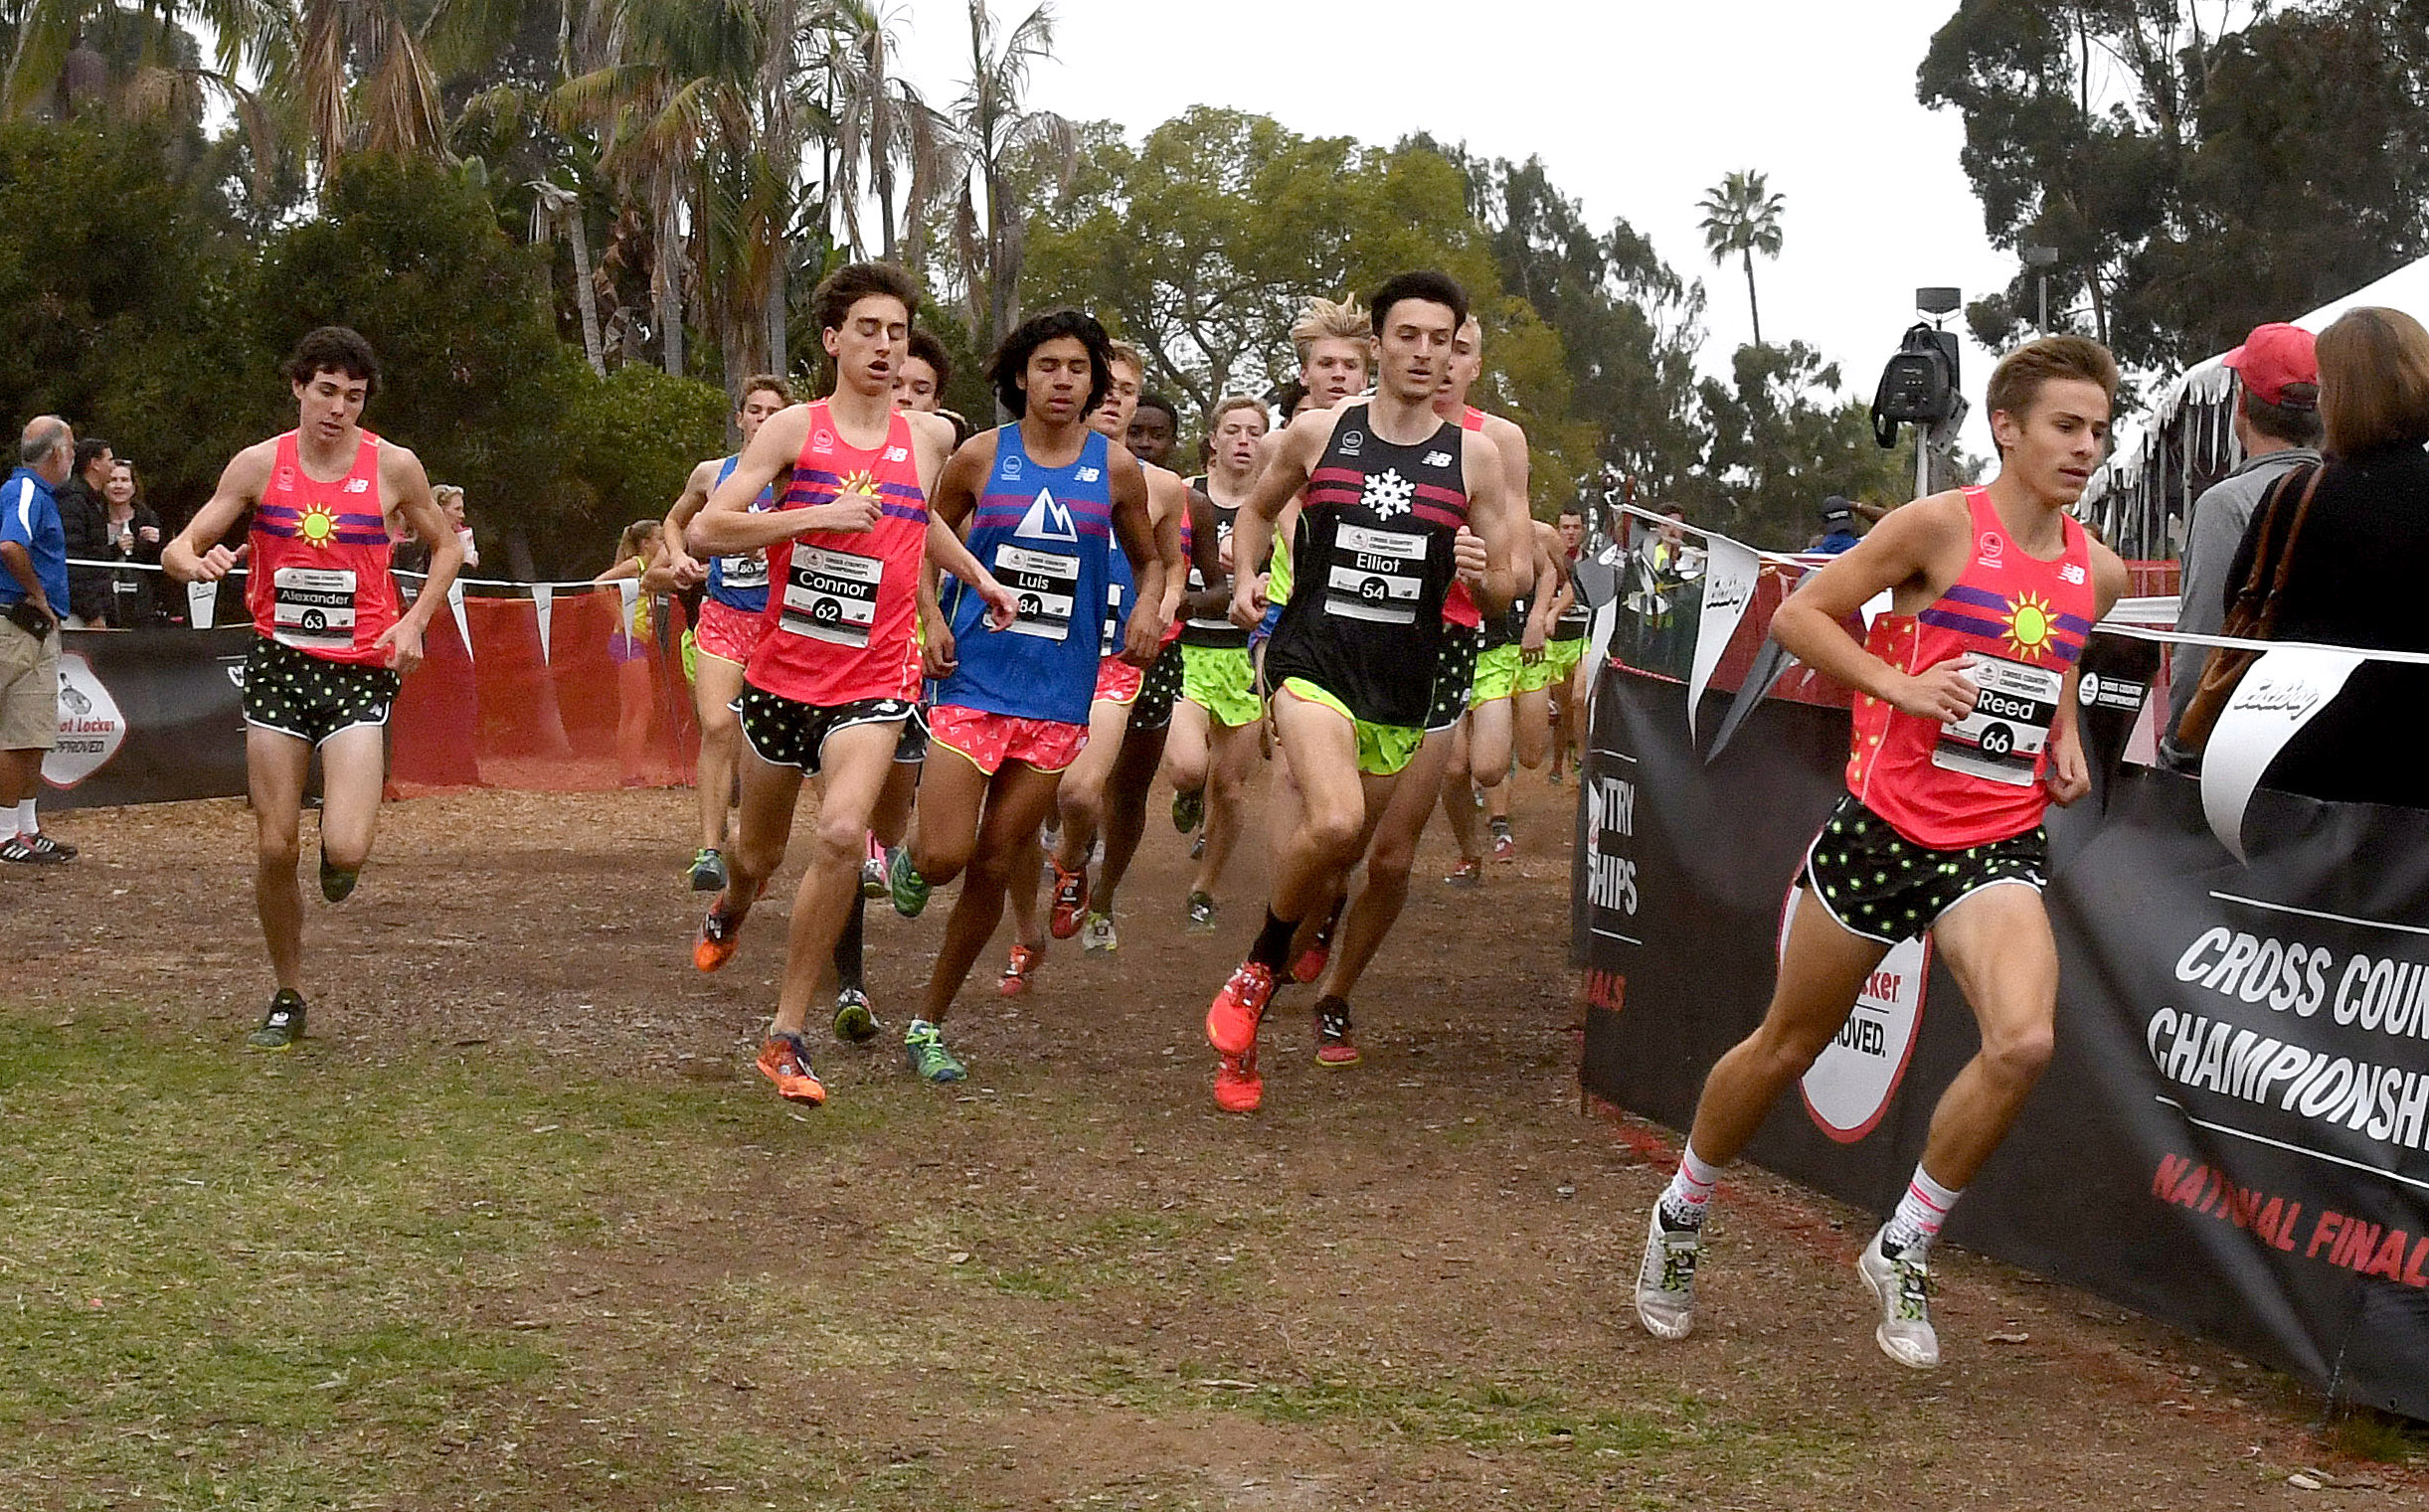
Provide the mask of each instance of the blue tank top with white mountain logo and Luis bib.
[{"label": "blue tank top with white mountain logo and Luis bib", "polygon": [[986,602],[955,585],[959,665],[938,687],[938,704],[1088,723],[1108,558],[1120,553],[1105,456],[1105,437],[1091,430],[1071,466],[1047,468],[1020,444],[1018,425],[996,432],[996,468],[969,519],[969,553],[1013,590],[1020,616],[1010,629],[986,629]]}]

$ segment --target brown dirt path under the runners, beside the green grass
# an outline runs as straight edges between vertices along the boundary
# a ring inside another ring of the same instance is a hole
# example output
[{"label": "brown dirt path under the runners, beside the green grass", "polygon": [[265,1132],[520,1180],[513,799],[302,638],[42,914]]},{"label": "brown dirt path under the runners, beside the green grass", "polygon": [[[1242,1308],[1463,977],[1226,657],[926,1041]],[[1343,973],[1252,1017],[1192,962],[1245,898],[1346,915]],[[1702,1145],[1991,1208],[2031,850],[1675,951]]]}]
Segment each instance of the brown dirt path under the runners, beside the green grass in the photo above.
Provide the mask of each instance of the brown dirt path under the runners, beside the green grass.
[{"label": "brown dirt path under the runners, beside the green grass", "polygon": [[[462,1495],[428,1505],[2429,1500],[2417,1466],[2332,1461],[2315,1403],[2264,1371],[1963,1255],[1948,1366],[1902,1371],[1848,1274],[1870,1223],[1761,1172],[1725,1196],[1698,1335],[1644,1337],[1627,1281],[1666,1172],[1657,1131],[1579,1109],[1569,794],[1523,781],[1521,862],[1482,893],[1440,886],[1436,825],[1363,993],[1365,1065],[1312,1065],[1302,988],[1253,1119],[1207,1102],[1197,1022],[1261,845],[1197,939],[1154,818],[1120,956],[1057,944],[1023,1000],[981,961],[952,1022],[967,1087],[826,1046],[833,1102],[797,1114],[746,1065],[785,886],[736,964],[695,976],[690,794],[393,806],[357,900],[311,905],[313,1053],[537,1056],[717,1109],[583,1194],[590,1243],[466,1294],[466,1325],[534,1330],[561,1369],[466,1408],[486,1427],[449,1449]],[[53,828],[78,866],[0,879],[10,1012],[146,1005],[233,1056],[267,993],[243,808]],[[894,1027],[947,905],[870,915]],[[2291,1488],[2305,1466],[2329,1485]]]}]

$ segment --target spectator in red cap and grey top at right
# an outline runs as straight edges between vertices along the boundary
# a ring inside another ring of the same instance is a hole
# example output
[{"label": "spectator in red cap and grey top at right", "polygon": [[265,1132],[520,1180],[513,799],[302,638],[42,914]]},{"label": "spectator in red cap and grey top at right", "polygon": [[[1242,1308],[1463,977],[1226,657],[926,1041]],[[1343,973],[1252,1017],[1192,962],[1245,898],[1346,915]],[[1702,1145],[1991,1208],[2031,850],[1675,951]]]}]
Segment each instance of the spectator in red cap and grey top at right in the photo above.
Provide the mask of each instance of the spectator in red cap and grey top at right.
[{"label": "spectator in red cap and grey top at right", "polygon": [[[2320,357],[2312,335],[2298,325],[2259,325],[2227,352],[2227,366],[2242,379],[2235,444],[2244,464],[2193,500],[2176,590],[2176,629],[2186,636],[2215,636],[2225,624],[2227,599],[2242,585],[2242,578],[2227,578],[2227,563],[2252,527],[2252,510],[2291,468],[2320,461]],[[2198,764],[2176,748],[2174,721],[2193,701],[2206,660],[2198,646],[2179,646],[2167,680],[2169,740],[2159,755],[2176,769]]]}]

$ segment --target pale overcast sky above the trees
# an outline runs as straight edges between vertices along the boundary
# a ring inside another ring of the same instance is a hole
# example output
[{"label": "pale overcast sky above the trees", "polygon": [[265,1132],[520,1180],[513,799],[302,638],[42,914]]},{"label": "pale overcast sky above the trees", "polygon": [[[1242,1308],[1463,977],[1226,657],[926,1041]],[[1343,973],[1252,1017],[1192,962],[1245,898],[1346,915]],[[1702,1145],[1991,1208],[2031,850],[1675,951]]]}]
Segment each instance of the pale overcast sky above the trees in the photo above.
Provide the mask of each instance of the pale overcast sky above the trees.
[{"label": "pale overcast sky above the trees", "polygon": [[[1695,201],[1729,170],[1761,170],[1788,197],[1788,245],[1754,274],[1763,332],[1819,347],[1870,400],[1914,323],[1916,286],[1955,284],[1975,299],[2014,272],[1984,240],[1958,167],[1963,126],[1914,100],[1914,68],[1953,10],[1953,0],[1054,0],[1057,58],[1035,73],[1030,100],[1120,121],[1132,141],[1193,104],[1219,104],[1304,136],[1392,143],[1431,131],[1489,158],[1540,155],[1589,223],[1627,218],[1671,267],[1705,282],[1703,359],[1715,371],[1751,325],[1744,274],[1712,267]],[[952,100],[967,75],[967,5],[908,0],[901,12],[904,73],[930,100]],[[1027,0],[998,15],[1018,22]],[[1989,451],[1987,376],[1987,354],[1967,345],[1972,451]]]}]

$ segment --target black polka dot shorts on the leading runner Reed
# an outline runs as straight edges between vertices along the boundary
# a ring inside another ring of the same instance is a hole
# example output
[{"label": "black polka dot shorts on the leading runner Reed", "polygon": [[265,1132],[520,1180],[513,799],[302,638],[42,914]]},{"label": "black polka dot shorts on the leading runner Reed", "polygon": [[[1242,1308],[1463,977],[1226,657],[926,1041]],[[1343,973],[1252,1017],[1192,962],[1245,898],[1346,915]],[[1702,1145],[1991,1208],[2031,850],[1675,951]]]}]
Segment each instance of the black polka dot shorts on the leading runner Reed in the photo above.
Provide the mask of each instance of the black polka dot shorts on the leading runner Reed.
[{"label": "black polka dot shorts on the leading runner Reed", "polygon": [[2048,869],[2050,835],[2040,825],[1965,849],[1931,849],[1844,794],[1805,852],[1797,881],[1848,934],[1897,944],[1982,888],[2023,883],[2038,893]]}]

